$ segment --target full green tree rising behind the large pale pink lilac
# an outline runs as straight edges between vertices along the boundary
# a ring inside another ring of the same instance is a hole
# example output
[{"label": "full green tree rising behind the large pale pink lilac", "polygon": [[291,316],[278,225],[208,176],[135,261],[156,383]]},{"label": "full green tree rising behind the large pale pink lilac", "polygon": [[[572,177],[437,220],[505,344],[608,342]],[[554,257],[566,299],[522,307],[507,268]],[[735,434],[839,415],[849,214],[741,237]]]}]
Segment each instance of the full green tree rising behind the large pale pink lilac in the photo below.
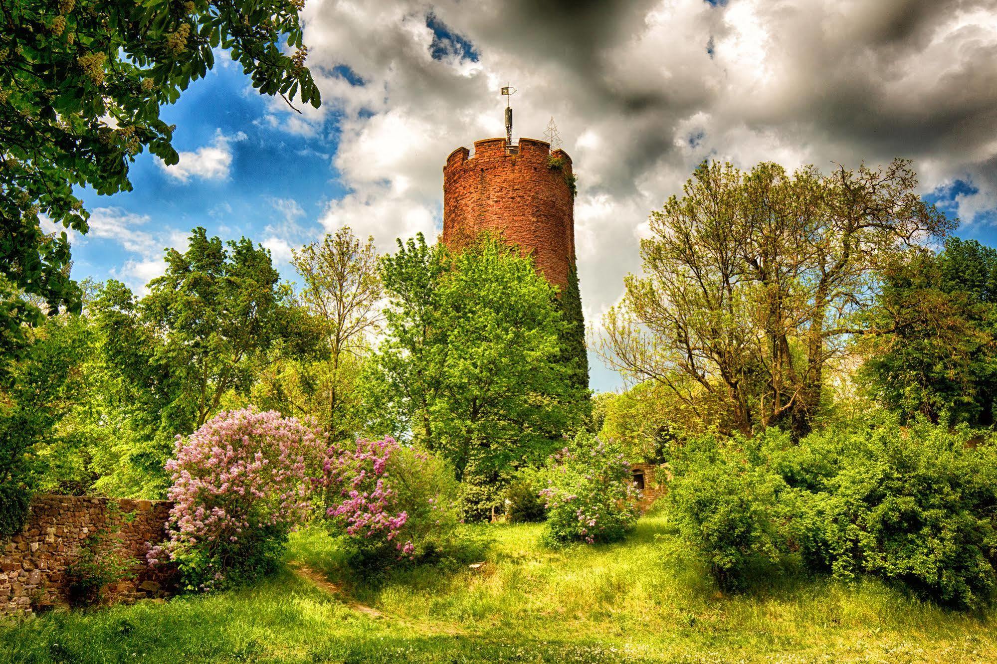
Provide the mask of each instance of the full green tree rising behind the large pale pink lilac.
[{"label": "full green tree rising behind the large pale pink lilac", "polygon": [[112,410],[136,433],[112,455],[118,468],[106,482],[118,494],[165,491],[173,438],[203,425],[226,393],[248,392],[275,347],[293,350],[311,334],[269,252],[246,238],[225,244],[195,228],[166,263],[141,300],[112,280],[95,305]]}]

